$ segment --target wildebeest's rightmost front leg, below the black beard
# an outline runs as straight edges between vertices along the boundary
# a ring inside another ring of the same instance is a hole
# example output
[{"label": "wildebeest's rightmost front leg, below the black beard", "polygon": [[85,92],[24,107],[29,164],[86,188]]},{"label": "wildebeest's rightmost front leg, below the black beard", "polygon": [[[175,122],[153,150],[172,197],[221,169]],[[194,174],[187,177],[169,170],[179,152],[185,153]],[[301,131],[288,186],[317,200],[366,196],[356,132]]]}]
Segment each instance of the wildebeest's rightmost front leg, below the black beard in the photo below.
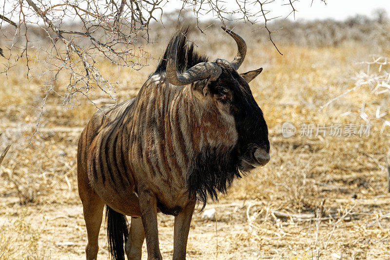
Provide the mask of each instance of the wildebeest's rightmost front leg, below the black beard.
[{"label": "wildebeest's rightmost front leg, below the black beard", "polygon": [[190,201],[187,206],[175,217],[174,231],[174,260],[186,259],[188,233],[190,231],[192,214],[196,200]]}]

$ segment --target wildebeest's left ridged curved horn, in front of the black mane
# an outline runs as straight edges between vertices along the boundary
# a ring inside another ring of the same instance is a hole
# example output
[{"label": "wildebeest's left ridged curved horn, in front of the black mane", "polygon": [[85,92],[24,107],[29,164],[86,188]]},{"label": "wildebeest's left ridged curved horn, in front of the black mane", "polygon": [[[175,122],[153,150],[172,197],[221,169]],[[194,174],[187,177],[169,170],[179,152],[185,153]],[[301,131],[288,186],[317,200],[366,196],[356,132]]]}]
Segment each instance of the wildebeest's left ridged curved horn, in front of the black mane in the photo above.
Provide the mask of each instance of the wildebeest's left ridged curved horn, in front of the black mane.
[{"label": "wildebeest's left ridged curved horn, in front of the black mane", "polygon": [[215,62],[200,62],[182,74],[177,75],[176,56],[178,41],[179,36],[176,36],[167,61],[166,73],[169,83],[176,86],[182,86],[195,82],[196,80],[203,80],[207,78],[210,78],[210,80],[216,80],[219,78],[222,73],[222,69]]}]

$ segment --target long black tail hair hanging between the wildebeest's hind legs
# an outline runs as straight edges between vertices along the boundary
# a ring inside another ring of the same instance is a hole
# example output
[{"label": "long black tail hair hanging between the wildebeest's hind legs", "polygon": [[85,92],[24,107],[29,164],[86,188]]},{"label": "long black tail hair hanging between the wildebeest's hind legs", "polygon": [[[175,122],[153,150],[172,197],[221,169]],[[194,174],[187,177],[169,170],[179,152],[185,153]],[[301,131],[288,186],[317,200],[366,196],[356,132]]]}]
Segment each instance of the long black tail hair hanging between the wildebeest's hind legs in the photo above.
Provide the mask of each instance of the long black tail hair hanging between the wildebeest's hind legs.
[{"label": "long black tail hair hanging between the wildebeest's hind legs", "polygon": [[108,252],[112,260],[125,260],[124,243],[127,241],[126,216],[106,205]]}]

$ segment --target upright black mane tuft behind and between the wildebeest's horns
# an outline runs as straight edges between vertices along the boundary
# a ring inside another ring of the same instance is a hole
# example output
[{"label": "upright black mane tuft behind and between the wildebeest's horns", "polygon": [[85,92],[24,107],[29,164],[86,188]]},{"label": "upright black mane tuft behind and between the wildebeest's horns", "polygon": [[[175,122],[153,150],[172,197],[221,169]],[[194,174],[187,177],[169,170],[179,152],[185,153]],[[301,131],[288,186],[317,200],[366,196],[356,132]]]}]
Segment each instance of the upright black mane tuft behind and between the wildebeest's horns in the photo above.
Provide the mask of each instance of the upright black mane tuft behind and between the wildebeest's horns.
[{"label": "upright black mane tuft behind and between the wildebeest's horns", "polygon": [[186,71],[187,69],[195,66],[199,62],[208,61],[208,58],[205,55],[199,54],[194,50],[194,43],[189,41],[187,39],[187,33],[188,33],[189,26],[183,26],[180,28],[180,30],[174,34],[169,40],[168,46],[165,49],[164,56],[161,58],[155,73],[156,74],[162,74],[165,73],[165,70],[167,68],[167,60],[169,56],[169,52],[171,50],[171,47],[175,41],[176,36],[179,36],[179,42],[177,44],[177,72],[182,73]]}]

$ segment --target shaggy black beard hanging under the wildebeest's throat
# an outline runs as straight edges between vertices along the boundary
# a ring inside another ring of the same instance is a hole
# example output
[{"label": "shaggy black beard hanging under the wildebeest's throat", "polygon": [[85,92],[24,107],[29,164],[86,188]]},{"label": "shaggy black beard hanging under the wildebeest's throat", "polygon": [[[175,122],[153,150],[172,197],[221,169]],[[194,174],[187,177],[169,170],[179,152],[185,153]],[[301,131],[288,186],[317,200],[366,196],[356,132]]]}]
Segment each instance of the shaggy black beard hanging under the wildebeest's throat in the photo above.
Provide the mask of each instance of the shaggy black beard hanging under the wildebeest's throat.
[{"label": "shaggy black beard hanging under the wildebeest's throat", "polygon": [[218,200],[217,192],[226,194],[235,178],[241,178],[236,149],[217,151],[203,148],[190,167],[187,188],[190,197],[196,196],[206,206],[207,198]]}]

